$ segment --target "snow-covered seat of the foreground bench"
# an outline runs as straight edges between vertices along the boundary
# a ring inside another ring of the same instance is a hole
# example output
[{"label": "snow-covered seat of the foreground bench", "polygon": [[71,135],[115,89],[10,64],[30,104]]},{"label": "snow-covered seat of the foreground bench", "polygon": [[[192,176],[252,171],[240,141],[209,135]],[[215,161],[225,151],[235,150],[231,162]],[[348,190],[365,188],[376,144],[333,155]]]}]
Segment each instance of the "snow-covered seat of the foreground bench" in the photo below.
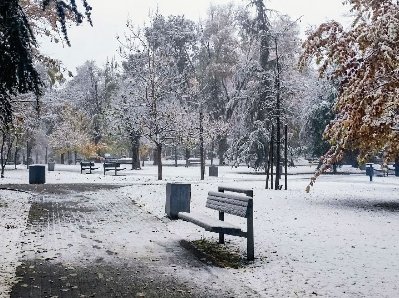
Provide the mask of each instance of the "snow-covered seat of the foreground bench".
[{"label": "snow-covered seat of the foreground bench", "polygon": [[241,232],[240,227],[222,220],[218,220],[205,214],[179,212],[178,217],[183,220],[192,222],[209,232],[225,234],[239,234]]}]

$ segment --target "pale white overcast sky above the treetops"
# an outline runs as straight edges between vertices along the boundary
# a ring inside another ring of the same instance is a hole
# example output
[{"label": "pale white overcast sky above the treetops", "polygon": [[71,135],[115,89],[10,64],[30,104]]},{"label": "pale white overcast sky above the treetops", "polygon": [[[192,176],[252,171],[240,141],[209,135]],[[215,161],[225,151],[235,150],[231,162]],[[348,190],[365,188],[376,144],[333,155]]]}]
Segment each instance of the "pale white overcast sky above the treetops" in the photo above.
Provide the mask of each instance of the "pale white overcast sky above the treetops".
[{"label": "pale white overcast sky above the treetops", "polygon": [[[269,9],[290,15],[293,20],[303,16],[300,25],[304,31],[309,24],[319,25],[327,19],[347,22],[343,17],[347,7],[342,5],[342,1],[271,0],[265,4]],[[211,2],[246,3],[245,0],[88,0],[88,2],[93,7],[93,27],[85,22],[81,26],[70,28],[68,35],[72,47],[39,40],[43,53],[62,60],[73,73],[76,66],[86,60],[96,60],[98,64],[102,64],[107,58],[111,60],[117,56],[115,33],[118,31],[120,35],[123,34],[128,14],[134,23],[141,24],[149,10],[155,10],[158,5],[159,12],[164,16],[184,14],[186,18],[198,21],[200,17],[205,16]]]}]

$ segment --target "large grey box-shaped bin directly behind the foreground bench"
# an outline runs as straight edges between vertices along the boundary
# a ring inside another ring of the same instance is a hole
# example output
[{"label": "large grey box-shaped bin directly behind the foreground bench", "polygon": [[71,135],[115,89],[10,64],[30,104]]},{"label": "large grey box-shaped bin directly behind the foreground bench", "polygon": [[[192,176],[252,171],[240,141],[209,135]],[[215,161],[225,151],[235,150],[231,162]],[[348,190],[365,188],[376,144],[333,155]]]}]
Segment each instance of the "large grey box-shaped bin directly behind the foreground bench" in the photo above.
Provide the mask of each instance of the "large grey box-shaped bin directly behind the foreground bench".
[{"label": "large grey box-shaped bin directly behind the foreground bench", "polygon": [[191,184],[166,183],[165,213],[171,219],[179,212],[190,212]]}]

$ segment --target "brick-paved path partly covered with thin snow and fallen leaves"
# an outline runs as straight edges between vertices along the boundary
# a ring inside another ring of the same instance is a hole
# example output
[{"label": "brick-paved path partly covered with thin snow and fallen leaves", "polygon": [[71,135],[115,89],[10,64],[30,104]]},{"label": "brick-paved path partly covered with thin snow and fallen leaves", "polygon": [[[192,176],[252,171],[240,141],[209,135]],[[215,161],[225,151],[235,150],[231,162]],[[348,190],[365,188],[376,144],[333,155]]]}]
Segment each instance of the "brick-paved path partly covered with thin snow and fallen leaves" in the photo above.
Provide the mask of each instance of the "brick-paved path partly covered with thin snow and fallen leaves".
[{"label": "brick-paved path partly covered with thin snow and fallen leaves", "polygon": [[12,298],[256,297],[116,186],[5,187],[34,192]]}]

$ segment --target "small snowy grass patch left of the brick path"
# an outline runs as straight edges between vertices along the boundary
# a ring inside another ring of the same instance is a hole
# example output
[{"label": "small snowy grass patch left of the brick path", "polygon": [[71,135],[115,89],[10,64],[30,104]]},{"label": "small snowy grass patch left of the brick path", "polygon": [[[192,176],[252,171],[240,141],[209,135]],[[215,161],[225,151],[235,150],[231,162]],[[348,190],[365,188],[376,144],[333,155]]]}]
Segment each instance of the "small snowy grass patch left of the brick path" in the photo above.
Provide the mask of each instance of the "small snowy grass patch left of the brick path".
[{"label": "small snowy grass patch left of the brick path", "polygon": [[26,193],[0,190],[0,298],[9,297],[8,293],[16,282],[22,232],[30,208],[28,199]]}]

